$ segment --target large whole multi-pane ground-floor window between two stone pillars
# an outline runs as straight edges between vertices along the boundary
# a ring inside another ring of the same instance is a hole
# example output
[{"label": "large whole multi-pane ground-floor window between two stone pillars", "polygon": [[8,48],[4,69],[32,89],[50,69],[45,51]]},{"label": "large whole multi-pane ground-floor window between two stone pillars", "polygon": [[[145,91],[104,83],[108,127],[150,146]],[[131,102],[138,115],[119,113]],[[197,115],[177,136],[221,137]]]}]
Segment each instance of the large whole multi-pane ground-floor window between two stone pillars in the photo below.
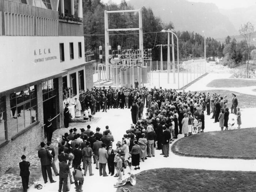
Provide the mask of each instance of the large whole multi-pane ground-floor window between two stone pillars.
[{"label": "large whole multi-pane ground-floor window between two stone pillars", "polygon": [[36,86],[10,94],[12,136],[37,121]]}]

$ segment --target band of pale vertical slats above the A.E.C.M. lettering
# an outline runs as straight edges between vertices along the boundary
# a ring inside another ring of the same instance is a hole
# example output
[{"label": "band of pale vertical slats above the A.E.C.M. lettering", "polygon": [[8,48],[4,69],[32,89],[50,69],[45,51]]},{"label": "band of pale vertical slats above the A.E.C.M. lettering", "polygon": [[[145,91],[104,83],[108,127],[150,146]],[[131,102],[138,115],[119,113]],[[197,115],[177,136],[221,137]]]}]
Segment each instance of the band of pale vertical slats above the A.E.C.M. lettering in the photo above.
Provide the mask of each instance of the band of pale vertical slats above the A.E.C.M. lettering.
[{"label": "band of pale vertical slats above the A.E.C.M. lettering", "polygon": [[58,20],[4,13],[5,35],[11,36],[57,36]]}]

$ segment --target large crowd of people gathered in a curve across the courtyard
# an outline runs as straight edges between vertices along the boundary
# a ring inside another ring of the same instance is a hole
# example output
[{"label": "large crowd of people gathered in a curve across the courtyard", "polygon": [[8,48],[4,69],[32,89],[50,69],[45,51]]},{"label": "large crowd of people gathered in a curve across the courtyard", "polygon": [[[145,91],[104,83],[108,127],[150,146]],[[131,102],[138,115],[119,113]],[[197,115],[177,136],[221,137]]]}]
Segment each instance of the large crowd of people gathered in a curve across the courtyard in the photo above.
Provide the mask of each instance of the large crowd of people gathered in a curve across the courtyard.
[{"label": "large crowd of people gathered in a curve across the courtyard", "polygon": [[[221,130],[223,127],[226,129],[228,127],[229,109],[225,95],[222,97],[215,93],[211,96],[209,93],[196,91],[192,93],[161,87],[150,90],[146,87],[119,90],[109,88],[109,90],[105,87],[94,88],[80,94],[82,110],[91,108],[93,115],[100,109],[104,112],[110,108],[129,108],[132,118],[130,128],[124,132],[123,138],[118,138],[116,146],[113,146],[114,137],[108,126],[103,132],[100,132],[99,127],[96,128],[96,132],[93,132],[90,125],[87,125],[86,130],[80,128],[80,133],[76,128],[69,129],[69,133],[65,133],[59,142],[59,173],[54,163],[53,147],[50,147],[50,142],[46,145],[42,142],[38,157],[41,159],[45,183],[48,182],[47,173],[50,182],[55,182],[52,179],[50,168],[52,166],[54,173],[60,177],[59,191],[62,187],[63,191],[67,191],[69,175],[71,184],[75,183],[76,191],[81,192],[87,169],[89,176],[94,175],[92,158],[100,176],[118,177],[118,183],[121,183],[125,170],[130,174],[132,169],[140,169],[141,162],[155,157],[155,150],[161,150],[163,157],[169,157],[169,144],[177,139],[179,134],[189,136],[204,132],[204,111],[208,116],[213,114],[214,123],[219,122]],[[231,113],[234,110],[237,114],[237,124],[240,128],[241,112],[237,108],[235,94],[231,102]],[[146,112],[143,115],[144,109]],[[74,181],[68,165],[72,159],[70,153],[74,154],[72,161]],[[106,165],[108,165],[108,174]]]}]

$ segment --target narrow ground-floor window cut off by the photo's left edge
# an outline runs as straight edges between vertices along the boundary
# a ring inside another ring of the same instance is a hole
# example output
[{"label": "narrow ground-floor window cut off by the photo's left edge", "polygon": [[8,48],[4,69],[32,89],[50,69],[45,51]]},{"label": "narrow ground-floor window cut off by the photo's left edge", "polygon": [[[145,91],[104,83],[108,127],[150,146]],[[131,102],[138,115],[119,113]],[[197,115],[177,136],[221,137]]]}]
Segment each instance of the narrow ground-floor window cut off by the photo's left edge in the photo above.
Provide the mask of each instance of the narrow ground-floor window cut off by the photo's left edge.
[{"label": "narrow ground-floor window cut off by the photo's left edge", "polygon": [[7,140],[6,102],[5,97],[0,97],[0,143]]}]

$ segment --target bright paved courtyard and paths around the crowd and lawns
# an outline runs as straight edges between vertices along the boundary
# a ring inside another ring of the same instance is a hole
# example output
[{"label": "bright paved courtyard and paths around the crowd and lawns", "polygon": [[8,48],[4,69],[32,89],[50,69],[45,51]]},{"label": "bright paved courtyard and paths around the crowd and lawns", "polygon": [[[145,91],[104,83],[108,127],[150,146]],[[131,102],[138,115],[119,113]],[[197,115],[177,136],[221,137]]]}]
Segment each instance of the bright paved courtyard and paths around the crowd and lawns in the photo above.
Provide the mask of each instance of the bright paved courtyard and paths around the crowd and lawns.
[{"label": "bright paved courtyard and paths around the crowd and lawns", "polygon": [[[206,84],[211,82],[211,80],[219,79],[219,78],[228,78],[227,74],[208,74],[203,77],[198,82],[194,83],[187,90],[196,91],[196,90],[206,90]],[[230,74],[229,74],[230,75]],[[200,87],[200,88],[199,88]],[[222,88],[225,89],[225,88]],[[237,92],[246,91],[242,93],[250,94],[251,87],[242,87],[241,89],[234,88]],[[208,88],[207,88],[208,90]],[[239,98],[238,98],[239,102]],[[254,121],[251,121],[252,114],[255,112],[255,108],[246,108],[241,109],[242,113],[242,126],[241,128],[255,127]],[[230,114],[231,118],[232,114]],[[86,128],[86,125],[89,123],[91,125],[91,129],[95,132],[96,127],[100,127],[101,131],[105,130],[105,126],[109,125],[110,131],[112,131],[112,135],[114,136],[114,145],[117,141],[121,141],[125,130],[129,129],[130,124],[132,123],[131,112],[129,109],[110,109],[107,113],[98,112],[95,114],[97,121],[87,122],[87,123],[71,123],[69,128],[76,127]],[[210,116],[205,115],[205,123],[206,128],[205,132],[209,131],[219,131],[219,124],[212,123],[213,120],[210,119]],[[79,130],[80,131],[80,130]],[[63,135],[65,132],[68,132],[67,128],[57,129],[53,135],[53,146],[57,147],[57,137]],[[178,138],[182,138],[183,135],[178,135]],[[38,143],[39,144],[39,143]],[[195,158],[195,157],[181,157],[178,155],[174,155],[170,152],[169,158],[163,158],[160,155],[161,151],[156,150],[156,154],[154,158],[148,158],[145,162],[140,163],[140,170],[133,170],[133,174],[139,173],[143,170],[147,169],[155,169],[162,167],[172,167],[172,168],[190,168],[190,169],[207,169],[207,170],[241,170],[241,171],[256,171],[256,160],[243,160],[243,159],[214,159],[214,158]],[[39,176],[39,184],[43,185],[43,191],[57,191],[59,186],[59,177],[53,176],[53,179],[56,180],[56,183],[44,184],[44,181],[41,177],[41,167],[39,159],[37,158],[37,151],[34,151],[27,157],[27,161],[30,161],[31,167],[30,172],[37,172],[37,176]],[[56,160],[56,164],[59,162]],[[108,176],[108,177],[100,177],[99,172],[95,169],[95,164],[93,166],[94,176],[86,176],[84,177],[84,185],[83,190],[86,192],[94,192],[94,191],[108,191],[114,192],[116,189],[113,187],[113,184],[117,182],[116,177]],[[126,169],[126,174],[123,178],[128,177],[128,169]],[[87,174],[88,175],[88,174]],[[30,177],[30,181],[33,180]],[[129,185],[127,185],[129,188]],[[14,167],[7,174],[0,178],[0,191],[22,191],[22,185],[19,177],[19,168],[18,166]],[[28,190],[29,192],[38,191],[35,189],[33,185],[30,185]],[[71,192],[75,191],[75,185],[71,185]]]}]

